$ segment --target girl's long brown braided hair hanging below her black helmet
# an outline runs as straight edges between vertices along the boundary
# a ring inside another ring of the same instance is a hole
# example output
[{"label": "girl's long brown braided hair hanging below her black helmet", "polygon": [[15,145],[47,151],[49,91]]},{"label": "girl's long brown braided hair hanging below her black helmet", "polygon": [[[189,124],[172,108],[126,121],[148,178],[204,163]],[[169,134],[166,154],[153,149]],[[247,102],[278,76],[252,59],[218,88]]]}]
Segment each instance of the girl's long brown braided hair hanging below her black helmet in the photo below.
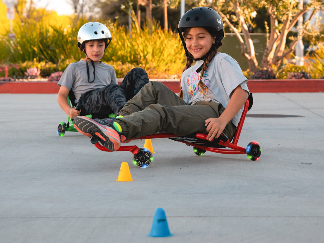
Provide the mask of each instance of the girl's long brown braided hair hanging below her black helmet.
[{"label": "girl's long brown braided hair hanging below her black helmet", "polygon": [[[204,27],[200,27],[200,28],[204,28]],[[191,29],[191,28],[187,28],[187,29],[184,30],[184,32],[183,32],[183,36],[184,36],[184,38],[186,38],[186,36],[187,36],[187,34],[188,34],[188,32],[189,32],[190,29]],[[204,28],[204,29],[206,29],[206,30],[208,31],[208,33],[210,33],[210,34],[212,35],[212,37],[215,37],[215,40],[218,39],[218,34],[217,34],[217,32],[216,32],[214,29],[212,29],[212,28]],[[199,82],[198,82],[198,88],[199,88],[199,90],[203,93],[203,98],[204,98],[204,100],[208,97],[208,88],[207,88],[206,85],[203,83],[203,80],[202,80],[202,78],[203,78],[203,74],[204,74],[204,72],[206,71],[206,69],[207,69],[207,67],[208,67],[208,65],[209,65],[209,63],[210,63],[210,61],[211,61],[211,60],[213,59],[213,57],[216,55],[216,53],[217,53],[217,51],[218,51],[218,48],[219,48],[221,45],[222,45],[222,42],[218,41],[218,44],[215,45],[214,50],[213,50],[211,53],[209,53],[209,55],[207,56],[207,58],[204,60],[203,68],[202,68],[202,70],[200,71]],[[192,57],[192,55],[191,55],[190,53],[189,53],[189,55]],[[183,73],[185,70],[187,70],[188,68],[190,68],[191,65],[192,65],[192,63],[193,63],[193,60],[192,60],[191,58],[187,57],[186,65],[185,65],[185,67],[184,67],[182,73]],[[181,76],[182,76],[182,75],[181,75]],[[180,77],[180,92],[179,92],[178,96],[179,96],[181,99],[183,99],[183,91],[182,91],[182,88],[181,88],[181,77]]]}]

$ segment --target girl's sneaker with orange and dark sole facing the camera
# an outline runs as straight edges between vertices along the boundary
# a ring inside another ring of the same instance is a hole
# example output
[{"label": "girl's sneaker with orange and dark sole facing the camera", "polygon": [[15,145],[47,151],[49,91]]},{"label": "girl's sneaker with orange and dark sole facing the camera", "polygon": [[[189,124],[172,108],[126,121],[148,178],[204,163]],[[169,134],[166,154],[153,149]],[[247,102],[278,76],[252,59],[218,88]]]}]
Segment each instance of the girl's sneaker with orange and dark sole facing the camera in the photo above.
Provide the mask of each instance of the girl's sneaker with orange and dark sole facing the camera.
[{"label": "girl's sneaker with orange and dark sole facing the camera", "polygon": [[110,151],[115,151],[120,148],[121,134],[116,131],[112,124],[109,124],[110,122],[102,125],[91,118],[77,116],[73,123],[76,130],[81,134],[97,138]]}]

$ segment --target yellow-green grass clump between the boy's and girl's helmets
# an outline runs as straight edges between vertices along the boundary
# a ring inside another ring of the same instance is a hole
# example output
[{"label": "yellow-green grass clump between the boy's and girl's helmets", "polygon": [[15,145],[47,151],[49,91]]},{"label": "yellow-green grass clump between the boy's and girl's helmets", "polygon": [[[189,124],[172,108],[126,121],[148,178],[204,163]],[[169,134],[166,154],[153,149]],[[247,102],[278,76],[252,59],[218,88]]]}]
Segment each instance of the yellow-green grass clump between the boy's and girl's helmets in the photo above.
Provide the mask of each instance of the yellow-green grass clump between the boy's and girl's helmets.
[{"label": "yellow-green grass clump between the boy's and girl's helmets", "polygon": [[149,76],[155,78],[157,75],[159,78],[180,77],[185,56],[177,34],[165,32],[156,22],[153,23],[152,33],[147,26],[140,29],[135,21],[131,33],[125,27],[118,27],[116,23],[110,24],[109,29],[112,41],[103,61],[142,67]]}]

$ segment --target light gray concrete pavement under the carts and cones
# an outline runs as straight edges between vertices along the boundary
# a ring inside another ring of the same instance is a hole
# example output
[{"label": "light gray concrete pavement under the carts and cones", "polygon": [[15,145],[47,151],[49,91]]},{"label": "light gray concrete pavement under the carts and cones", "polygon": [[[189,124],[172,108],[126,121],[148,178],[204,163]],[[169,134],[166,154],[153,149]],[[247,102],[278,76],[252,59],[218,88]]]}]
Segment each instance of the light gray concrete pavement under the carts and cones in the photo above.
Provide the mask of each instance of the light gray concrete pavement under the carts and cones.
[{"label": "light gray concrete pavement under the carts and cones", "polygon": [[[258,161],[152,139],[154,161],[140,169],[130,152],[58,136],[67,116],[55,94],[0,94],[0,241],[321,242],[323,101],[255,93],[238,144],[257,141]],[[124,161],[134,181],[116,181]],[[147,236],[158,207],[172,237]]]}]

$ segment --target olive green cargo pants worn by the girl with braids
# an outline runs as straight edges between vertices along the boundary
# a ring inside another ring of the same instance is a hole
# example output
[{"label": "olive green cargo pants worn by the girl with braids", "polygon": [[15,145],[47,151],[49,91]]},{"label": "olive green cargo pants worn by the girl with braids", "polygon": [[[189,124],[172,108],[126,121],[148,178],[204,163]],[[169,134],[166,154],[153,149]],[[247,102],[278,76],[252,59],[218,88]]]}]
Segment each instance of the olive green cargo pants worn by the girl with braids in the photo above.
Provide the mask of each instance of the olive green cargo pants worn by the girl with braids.
[{"label": "olive green cargo pants worn by the girl with braids", "polygon": [[[206,132],[205,120],[217,118],[224,108],[216,102],[199,101],[188,105],[172,90],[157,81],[146,84],[117,115],[126,139],[168,132],[178,136]],[[223,133],[231,140],[236,126],[229,122]]]}]

